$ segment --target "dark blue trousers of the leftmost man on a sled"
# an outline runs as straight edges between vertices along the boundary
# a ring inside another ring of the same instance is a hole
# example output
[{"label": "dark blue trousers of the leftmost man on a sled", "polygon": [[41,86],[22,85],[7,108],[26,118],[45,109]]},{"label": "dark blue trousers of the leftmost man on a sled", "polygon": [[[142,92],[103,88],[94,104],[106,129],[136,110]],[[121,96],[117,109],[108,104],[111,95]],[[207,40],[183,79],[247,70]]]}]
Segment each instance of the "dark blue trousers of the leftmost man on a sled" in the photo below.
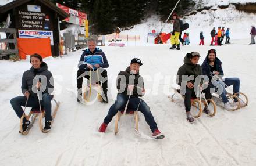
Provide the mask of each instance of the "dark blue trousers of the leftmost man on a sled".
[{"label": "dark blue trousers of the leftmost man on a sled", "polygon": [[[12,104],[13,110],[15,111],[15,113],[19,118],[23,116],[24,111],[22,109],[22,106],[23,107],[25,106],[26,100],[27,100],[26,96],[18,96],[10,100],[10,104]],[[49,95],[48,93],[42,94],[42,100],[40,101],[40,103],[45,110],[45,121],[52,121],[51,100],[52,100],[51,95]],[[27,101],[27,107],[38,108],[39,107],[38,98],[29,96],[29,100]]]}]

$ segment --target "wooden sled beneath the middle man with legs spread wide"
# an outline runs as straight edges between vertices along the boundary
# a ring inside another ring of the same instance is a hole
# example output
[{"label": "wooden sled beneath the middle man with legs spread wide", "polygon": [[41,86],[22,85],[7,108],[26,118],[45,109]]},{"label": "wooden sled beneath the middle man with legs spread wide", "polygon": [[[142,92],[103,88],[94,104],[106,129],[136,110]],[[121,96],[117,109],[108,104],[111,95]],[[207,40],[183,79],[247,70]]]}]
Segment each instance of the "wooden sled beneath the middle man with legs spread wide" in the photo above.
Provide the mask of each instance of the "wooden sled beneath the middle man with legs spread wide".
[{"label": "wooden sled beneath the middle man with legs spread wide", "polygon": [[[118,123],[119,123],[119,121],[120,121],[121,116],[122,116],[123,113],[124,113],[124,110],[125,110],[125,108],[119,110],[118,113],[116,114],[116,120],[115,120],[115,135],[118,134],[118,131],[119,131],[119,129],[118,129]],[[133,115],[133,116],[134,116],[134,120],[135,120],[135,130],[136,130],[136,132],[138,133],[138,121],[139,121],[138,111],[132,110],[132,109],[127,109],[125,114],[126,114],[126,115]]]}]

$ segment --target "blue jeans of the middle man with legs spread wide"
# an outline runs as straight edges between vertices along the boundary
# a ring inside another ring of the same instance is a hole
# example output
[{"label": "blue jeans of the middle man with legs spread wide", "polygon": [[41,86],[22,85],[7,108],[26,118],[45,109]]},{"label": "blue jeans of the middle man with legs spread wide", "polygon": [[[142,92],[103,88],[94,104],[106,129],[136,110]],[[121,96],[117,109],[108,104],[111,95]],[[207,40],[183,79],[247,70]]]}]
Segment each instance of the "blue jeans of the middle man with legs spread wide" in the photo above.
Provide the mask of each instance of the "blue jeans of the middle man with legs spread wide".
[{"label": "blue jeans of the middle man with legs spread wide", "polygon": [[[110,107],[108,115],[104,119],[105,124],[109,124],[109,122],[111,122],[112,118],[116,115],[116,113],[118,113],[118,111],[121,111],[121,109],[126,106],[128,99],[128,95],[123,95],[119,93],[118,96],[116,96],[115,103]],[[150,111],[150,107],[148,107],[147,103],[145,103],[144,100],[141,100],[139,107],[138,103],[140,103],[140,98],[130,98],[128,104],[129,109],[137,110],[138,108],[138,111],[144,114],[145,120],[147,124],[150,125],[151,131],[154,132],[155,129],[158,128],[157,123],[155,122],[154,117]]]}]

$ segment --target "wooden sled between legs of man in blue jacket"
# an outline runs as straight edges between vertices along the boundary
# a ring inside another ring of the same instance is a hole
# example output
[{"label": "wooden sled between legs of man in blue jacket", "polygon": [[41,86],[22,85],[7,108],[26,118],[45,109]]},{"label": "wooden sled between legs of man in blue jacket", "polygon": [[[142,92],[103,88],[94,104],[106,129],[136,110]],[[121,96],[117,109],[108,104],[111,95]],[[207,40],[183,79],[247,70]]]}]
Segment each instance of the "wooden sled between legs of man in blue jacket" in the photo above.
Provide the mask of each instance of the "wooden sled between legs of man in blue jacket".
[{"label": "wooden sled between legs of man in blue jacket", "polygon": [[[99,71],[97,70],[97,82],[96,83],[92,83],[91,82],[91,73],[92,71],[90,71],[90,79],[87,81],[87,85],[84,89],[83,92],[83,98],[86,102],[90,102],[91,96],[92,96],[92,89],[95,89],[97,91],[97,99],[99,102],[102,102],[102,88],[101,85],[99,84]],[[96,97],[96,96],[95,96]],[[95,99],[95,98],[93,98]]]}]

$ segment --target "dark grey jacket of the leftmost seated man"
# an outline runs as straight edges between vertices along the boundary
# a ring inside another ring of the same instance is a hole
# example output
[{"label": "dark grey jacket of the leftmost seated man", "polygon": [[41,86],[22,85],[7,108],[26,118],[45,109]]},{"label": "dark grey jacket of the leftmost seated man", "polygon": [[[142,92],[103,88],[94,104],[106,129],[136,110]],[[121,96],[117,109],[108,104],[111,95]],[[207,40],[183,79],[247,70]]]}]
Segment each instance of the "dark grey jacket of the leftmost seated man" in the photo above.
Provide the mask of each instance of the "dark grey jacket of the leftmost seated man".
[{"label": "dark grey jacket of the leftmost seated man", "polygon": [[[52,73],[48,71],[47,64],[45,62],[42,62],[41,68],[34,69],[33,67],[30,68],[30,70],[27,70],[23,73],[22,75],[22,93],[24,94],[26,91],[30,90],[29,93],[31,96],[37,97],[37,94],[34,92],[37,92],[37,88],[33,87],[33,80],[36,75],[44,75],[47,80],[44,78],[40,79],[41,82],[41,89],[45,88],[45,91],[42,92],[44,93],[51,93],[54,91],[54,78],[52,77]],[[50,82],[51,80],[51,82]],[[37,82],[34,82],[34,86],[36,85]],[[46,83],[46,84],[45,84]],[[33,89],[31,89],[33,87]],[[34,92],[33,92],[34,91]]]}]

